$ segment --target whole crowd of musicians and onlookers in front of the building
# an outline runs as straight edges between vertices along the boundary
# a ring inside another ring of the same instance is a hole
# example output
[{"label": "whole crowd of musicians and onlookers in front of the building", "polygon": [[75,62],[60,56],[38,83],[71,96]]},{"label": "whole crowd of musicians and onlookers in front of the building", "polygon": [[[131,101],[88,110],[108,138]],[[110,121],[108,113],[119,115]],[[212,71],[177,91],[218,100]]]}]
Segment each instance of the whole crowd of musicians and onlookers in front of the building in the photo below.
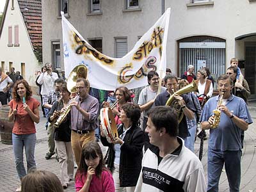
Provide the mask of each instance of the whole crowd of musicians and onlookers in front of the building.
[{"label": "whole crowd of musicians and onlookers in front of the building", "polygon": [[[36,171],[35,123],[40,120],[40,102],[33,99],[28,82],[18,79],[14,68],[10,76],[0,68],[2,104],[7,104],[7,96],[3,95],[12,88],[8,117],[14,121],[13,153],[21,181],[16,191],[36,191],[38,179],[42,180],[38,191],[46,191],[47,187],[63,191],[73,178],[76,191],[81,192],[218,191],[224,164],[230,191],[239,191],[244,131],[252,118],[246,105],[250,88],[237,61],[232,58],[227,74],[220,75],[216,82],[206,67],[194,74],[193,65],[181,78],[167,69],[163,81],[157,72],[150,71],[148,86],[135,90],[125,86],[115,92],[97,90],[90,88],[87,79],[78,78],[77,96],[73,99],[65,76],[60,77],[51,63],[46,63],[36,79],[47,118],[49,151],[45,159],[55,154],[60,163],[60,180],[50,172]],[[194,81],[198,92],[177,94]],[[218,88],[215,96],[214,83]],[[170,99],[172,104],[166,106]],[[101,108],[111,109],[114,116],[118,132],[114,141],[109,141],[109,135],[102,130],[106,127],[100,121],[108,119],[99,121]],[[68,109],[70,112],[56,126]],[[213,112],[216,109],[219,118]],[[207,185],[202,163],[194,154],[199,123],[202,132],[209,129]],[[108,147],[106,154],[102,154],[99,141]],[[28,186],[29,180],[35,182]]]}]

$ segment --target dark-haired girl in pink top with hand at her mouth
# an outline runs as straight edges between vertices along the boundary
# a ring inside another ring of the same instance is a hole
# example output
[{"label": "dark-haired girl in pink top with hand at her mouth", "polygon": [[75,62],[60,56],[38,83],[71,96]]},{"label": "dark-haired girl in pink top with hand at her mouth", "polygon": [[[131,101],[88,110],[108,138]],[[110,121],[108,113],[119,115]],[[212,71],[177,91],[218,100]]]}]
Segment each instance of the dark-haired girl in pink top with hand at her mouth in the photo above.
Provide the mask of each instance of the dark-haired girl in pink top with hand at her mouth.
[{"label": "dark-haired girl in pink top with hand at her mouth", "polygon": [[97,142],[88,142],[82,148],[75,179],[76,191],[79,192],[115,192],[113,177],[104,166],[102,151]]}]

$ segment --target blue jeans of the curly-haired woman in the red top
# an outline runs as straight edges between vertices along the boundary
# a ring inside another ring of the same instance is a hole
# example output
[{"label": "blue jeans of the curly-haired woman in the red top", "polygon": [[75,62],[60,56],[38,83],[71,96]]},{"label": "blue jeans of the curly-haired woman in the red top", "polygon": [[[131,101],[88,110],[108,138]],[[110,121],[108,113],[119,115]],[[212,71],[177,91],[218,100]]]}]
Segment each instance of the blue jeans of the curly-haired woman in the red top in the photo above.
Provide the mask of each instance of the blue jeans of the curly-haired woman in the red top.
[{"label": "blue jeans of the curly-haired woman in the red top", "polygon": [[16,170],[19,178],[22,179],[26,175],[23,163],[23,148],[25,147],[28,172],[36,169],[35,162],[35,145],[36,134],[12,134],[13,153],[15,157]]}]

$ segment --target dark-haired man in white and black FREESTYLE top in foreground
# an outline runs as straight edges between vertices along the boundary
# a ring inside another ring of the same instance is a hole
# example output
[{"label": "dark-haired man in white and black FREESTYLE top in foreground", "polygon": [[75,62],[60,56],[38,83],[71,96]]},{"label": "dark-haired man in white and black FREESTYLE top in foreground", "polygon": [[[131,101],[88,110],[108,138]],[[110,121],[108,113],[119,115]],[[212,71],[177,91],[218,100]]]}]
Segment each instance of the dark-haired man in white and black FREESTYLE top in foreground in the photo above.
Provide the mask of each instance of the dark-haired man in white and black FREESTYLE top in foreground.
[{"label": "dark-haired man in white and black FREESTYLE top in foreground", "polygon": [[172,108],[157,106],[148,112],[146,132],[152,146],[143,156],[135,192],[206,191],[202,163],[177,136],[178,127]]}]

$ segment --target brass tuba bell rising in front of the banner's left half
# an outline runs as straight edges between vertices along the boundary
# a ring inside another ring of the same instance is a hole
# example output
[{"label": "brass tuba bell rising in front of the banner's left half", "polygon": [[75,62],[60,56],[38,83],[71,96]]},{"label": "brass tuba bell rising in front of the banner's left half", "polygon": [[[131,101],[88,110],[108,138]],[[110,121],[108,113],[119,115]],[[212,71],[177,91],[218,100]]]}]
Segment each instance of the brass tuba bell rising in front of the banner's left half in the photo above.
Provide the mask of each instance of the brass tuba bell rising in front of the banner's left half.
[{"label": "brass tuba bell rising in front of the banner's left half", "polygon": [[70,93],[76,93],[76,81],[79,78],[87,79],[88,68],[85,65],[77,65],[73,68],[72,72],[70,72],[67,79],[67,89]]}]

